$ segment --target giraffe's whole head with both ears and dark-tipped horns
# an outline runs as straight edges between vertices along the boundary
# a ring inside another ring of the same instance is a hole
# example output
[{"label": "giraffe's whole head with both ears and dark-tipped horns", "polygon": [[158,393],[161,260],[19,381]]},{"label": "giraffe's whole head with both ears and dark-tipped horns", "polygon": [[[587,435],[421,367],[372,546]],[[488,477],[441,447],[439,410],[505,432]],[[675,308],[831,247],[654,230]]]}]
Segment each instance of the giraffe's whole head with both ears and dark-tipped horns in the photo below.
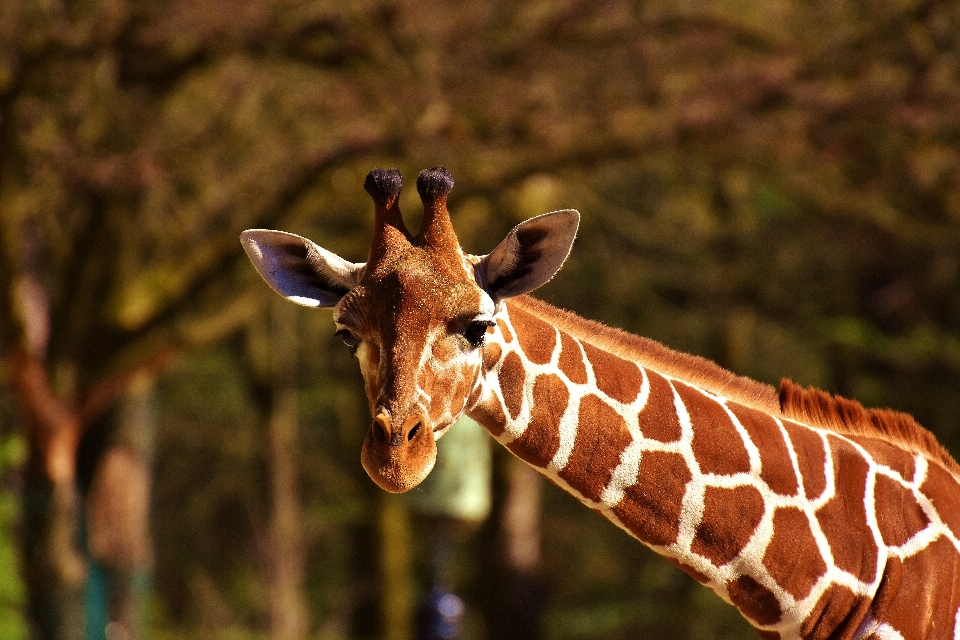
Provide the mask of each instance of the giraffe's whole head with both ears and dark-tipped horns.
[{"label": "giraffe's whole head with both ears and dark-tipped horns", "polygon": [[447,212],[453,179],[443,168],[417,179],[424,216],[416,236],[400,215],[396,169],[374,169],[364,188],[375,205],[366,263],[310,240],[252,229],[242,242],[278,293],[332,307],[337,335],[356,355],[373,422],[361,461],[383,489],[417,486],[433,468],[436,441],[476,401],[487,329],[501,303],[557,272],[579,214],[556,211],[516,226],[488,255],[465,254]]}]

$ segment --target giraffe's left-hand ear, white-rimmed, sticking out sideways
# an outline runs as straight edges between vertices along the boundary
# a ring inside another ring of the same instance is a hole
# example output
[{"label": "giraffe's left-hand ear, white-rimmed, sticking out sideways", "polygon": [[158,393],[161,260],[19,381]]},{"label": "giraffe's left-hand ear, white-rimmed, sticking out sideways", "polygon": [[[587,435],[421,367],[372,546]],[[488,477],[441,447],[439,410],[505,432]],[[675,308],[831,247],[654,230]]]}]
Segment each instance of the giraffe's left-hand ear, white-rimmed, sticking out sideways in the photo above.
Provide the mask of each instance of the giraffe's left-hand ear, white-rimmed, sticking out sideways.
[{"label": "giraffe's left-hand ear, white-rimmed, sticking out sideways", "polygon": [[274,291],[307,307],[336,305],[357,285],[365,266],[284,231],[248,229],[240,242]]}]

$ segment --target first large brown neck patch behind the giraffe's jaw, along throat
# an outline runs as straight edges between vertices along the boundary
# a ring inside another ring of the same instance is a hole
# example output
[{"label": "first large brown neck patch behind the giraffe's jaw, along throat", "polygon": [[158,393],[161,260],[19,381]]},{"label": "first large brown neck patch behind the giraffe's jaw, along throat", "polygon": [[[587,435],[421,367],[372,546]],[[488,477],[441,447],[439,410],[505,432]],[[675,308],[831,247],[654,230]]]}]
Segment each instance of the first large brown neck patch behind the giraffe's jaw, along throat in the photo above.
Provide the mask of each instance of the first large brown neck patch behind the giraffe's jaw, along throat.
[{"label": "first large brown neck patch behind the giraffe's jaw, along throat", "polygon": [[533,385],[530,424],[507,448],[534,466],[546,467],[560,448],[560,416],[569,400],[570,393],[558,376],[537,376]]}]

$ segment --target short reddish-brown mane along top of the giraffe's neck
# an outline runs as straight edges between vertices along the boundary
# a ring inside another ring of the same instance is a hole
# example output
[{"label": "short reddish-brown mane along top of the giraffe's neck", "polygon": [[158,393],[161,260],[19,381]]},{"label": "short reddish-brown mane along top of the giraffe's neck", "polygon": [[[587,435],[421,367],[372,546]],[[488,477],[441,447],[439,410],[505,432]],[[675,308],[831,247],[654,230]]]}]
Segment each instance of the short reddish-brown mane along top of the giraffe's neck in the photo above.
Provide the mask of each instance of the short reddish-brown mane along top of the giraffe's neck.
[{"label": "short reddish-brown mane along top of the giraffe's neck", "polygon": [[682,380],[704,391],[773,416],[832,431],[866,437],[920,453],[960,476],[960,465],[930,431],[912,416],[892,409],[867,409],[855,400],[805,389],[784,378],[779,394],[768,384],[739,376],[720,365],[676,351],[650,338],[587,320],[530,296],[512,298],[516,305],[568,332],[581,342],[629,358],[657,373]]}]

